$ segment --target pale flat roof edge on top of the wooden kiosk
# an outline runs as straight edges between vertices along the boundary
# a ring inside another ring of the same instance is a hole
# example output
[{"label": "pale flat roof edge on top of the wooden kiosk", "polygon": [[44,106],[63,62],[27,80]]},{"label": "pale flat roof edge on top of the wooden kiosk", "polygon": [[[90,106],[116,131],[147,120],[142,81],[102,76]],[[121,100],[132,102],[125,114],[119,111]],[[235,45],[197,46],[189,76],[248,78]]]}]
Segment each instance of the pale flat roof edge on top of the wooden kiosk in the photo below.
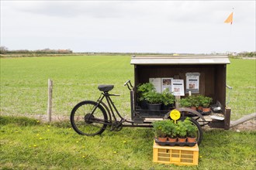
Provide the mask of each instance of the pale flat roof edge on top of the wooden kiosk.
[{"label": "pale flat roof edge on top of the wooden kiosk", "polygon": [[229,64],[228,56],[133,56],[134,65],[206,65]]}]

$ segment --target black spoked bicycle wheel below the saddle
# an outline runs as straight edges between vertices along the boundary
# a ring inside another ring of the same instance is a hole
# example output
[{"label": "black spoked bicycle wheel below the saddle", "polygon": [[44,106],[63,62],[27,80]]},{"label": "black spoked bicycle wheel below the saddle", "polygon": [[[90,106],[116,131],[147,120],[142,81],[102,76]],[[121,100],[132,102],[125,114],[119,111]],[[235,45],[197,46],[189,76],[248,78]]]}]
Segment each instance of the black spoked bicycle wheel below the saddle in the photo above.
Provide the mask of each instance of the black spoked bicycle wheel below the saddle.
[{"label": "black spoked bicycle wheel below the saddle", "polygon": [[106,110],[95,101],[82,101],[71,111],[71,125],[78,134],[94,136],[102,134],[107,126]]}]

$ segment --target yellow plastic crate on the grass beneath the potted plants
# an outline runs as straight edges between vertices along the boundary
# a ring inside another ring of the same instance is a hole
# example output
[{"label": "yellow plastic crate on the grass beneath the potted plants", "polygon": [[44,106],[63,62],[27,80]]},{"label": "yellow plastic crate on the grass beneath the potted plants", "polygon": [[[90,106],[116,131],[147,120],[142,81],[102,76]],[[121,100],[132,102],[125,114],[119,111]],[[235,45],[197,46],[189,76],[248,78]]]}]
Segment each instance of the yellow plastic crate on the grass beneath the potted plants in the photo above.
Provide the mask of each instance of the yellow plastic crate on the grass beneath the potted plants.
[{"label": "yellow plastic crate on the grass beneath the potted plants", "polygon": [[175,165],[198,165],[199,147],[160,146],[154,142],[153,162]]}]

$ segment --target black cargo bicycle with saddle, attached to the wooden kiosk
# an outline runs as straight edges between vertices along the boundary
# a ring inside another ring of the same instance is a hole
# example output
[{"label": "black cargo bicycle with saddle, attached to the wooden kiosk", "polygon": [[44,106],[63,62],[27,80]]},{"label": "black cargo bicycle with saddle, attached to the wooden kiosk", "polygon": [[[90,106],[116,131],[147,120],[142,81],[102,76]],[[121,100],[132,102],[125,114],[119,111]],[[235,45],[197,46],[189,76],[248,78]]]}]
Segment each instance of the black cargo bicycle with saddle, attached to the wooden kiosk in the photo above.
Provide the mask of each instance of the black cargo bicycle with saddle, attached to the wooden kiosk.
[{"label": "black cargo bicycle with saddle, attached to the wooden kiosk", "polygon": [[[130,80],[126,81],[124,86],[133,91]],[[152,122],[144,121],[143,124],[137,124],[134,121],[124,119],[111,99],[111,97],[119,96],[109,93],[113,88],[113,85],[99,85],[98,89],[102,93],[97,101],[85,100],[74,106],[71,111],[71,125],[74,131],[78,134],[94,136],[102,134],[107,126],[109,126],[110,131],[120,131],[123,127],[152,127]],[[103,102],[104,98],[106,98],[107,104]],[[118,117],[116,117],[115,113]],[[184,114],[182,114],[180,120],[185,120]],[[197,143],[200,144],[202,141],[202,128],[193,118],[190,118],[190,121],[198,128]]]}]

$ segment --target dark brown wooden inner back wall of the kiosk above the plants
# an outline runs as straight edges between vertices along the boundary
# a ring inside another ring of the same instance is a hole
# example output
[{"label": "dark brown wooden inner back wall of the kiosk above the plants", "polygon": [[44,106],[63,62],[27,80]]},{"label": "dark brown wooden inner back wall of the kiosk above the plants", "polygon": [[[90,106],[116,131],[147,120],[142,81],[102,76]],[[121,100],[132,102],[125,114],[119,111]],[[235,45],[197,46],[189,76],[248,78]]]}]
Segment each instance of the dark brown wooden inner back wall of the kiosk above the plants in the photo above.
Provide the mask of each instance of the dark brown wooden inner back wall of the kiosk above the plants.
[{"label": "dark brown wooden inner back wall of the kiosk above the plants", "polygon": [[226,65],[137,65],[134,66],[134,82],[137,86],[147,83],[149,78],[179,77],[185,83],[185,73],[200,73],[199,93],[226,105]]}]

